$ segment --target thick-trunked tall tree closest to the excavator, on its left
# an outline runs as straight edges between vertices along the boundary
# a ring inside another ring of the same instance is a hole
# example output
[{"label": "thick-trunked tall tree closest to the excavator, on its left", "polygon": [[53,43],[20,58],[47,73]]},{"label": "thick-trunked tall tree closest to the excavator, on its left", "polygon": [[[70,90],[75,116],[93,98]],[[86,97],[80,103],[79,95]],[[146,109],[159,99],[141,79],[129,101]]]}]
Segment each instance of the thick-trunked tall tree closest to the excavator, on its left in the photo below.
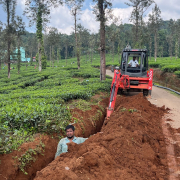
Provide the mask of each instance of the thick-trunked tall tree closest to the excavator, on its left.
[{"label": "thick-trunked tall tree closest to the excavator, on its left", "polygon": [[[100,80],[106,80],[106,43],[105,43],[105,23],[107,21],[105,15],[110,12],[110,8],[112,7],[112,3],[108,0],[93,0],[96,2],[96,6],[94,8],[94,13],[96,14],[96,18],[100,21]],[[109,9],[108,9],[109,8]]]}]

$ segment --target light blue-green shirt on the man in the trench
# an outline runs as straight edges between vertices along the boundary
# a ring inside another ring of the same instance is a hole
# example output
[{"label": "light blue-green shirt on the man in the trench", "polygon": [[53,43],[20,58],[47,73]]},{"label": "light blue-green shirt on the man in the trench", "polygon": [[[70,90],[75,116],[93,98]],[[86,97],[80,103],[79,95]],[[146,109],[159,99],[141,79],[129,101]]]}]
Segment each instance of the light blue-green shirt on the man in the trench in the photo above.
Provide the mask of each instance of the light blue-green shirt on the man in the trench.
[{"label": "light blue-green shirt on the man in the trench", "polygon": [[[72,142],[76,143],[76,144],[81,144],[83,143],[86,139],[88,138],[82,138],[82,137],[75,137],[73,138]],[[68,152],[68,146],[67,146],[67,143],[69,143],[69,139],[66,137],[66,138],[63,138],[59,141],[58,143],[58,147],[57,147],[57,152],[56,152],[56,155],[55,155],[55,158],[57,156],[59,156],[61,153],[65,153],[65,152]]]}]

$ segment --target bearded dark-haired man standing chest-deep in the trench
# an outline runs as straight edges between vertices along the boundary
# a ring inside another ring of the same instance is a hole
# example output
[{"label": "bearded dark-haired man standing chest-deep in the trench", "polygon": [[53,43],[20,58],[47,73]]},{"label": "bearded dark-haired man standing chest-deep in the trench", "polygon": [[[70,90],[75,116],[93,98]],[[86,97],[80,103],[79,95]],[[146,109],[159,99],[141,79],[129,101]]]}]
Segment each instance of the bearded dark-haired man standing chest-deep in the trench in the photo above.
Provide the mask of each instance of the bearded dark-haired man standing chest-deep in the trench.
[{"label": "bearded dark-haired man standing chest-deep in the trench", "polygon": [[59,141],[55,158],[62,153],[68,152],[67,143],[74,142],[76,144],[81,144],[86,139],[88,139],[88,138],[82,138],[82,137],[75,137],[74,136],[74,130],[75,130],[75,128],[73,125],[68,125],[66,127],[66,136],[67,137],[65,137]]}]

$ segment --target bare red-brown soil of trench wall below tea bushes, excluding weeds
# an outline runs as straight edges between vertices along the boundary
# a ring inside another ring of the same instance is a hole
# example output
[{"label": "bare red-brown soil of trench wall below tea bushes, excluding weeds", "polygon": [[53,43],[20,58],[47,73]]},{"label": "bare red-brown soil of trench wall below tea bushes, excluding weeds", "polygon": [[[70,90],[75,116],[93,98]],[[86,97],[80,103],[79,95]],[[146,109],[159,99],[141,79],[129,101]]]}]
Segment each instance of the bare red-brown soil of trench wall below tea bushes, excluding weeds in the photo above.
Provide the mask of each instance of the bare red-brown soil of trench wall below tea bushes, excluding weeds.
[{"label": "bare red-brown soil of trench wall below tea bushes, excluding weeds", "polygon": [[[96,98],[99,96],[101,95],[96,95]],[[102,100],[99,102],[99,105],[101,108],[98,105],[93,105],[91,110],[85,112],[79,109],[71,110],[73,120],[74,118],[83,120],[75,124],[76,136],[89,137],[90,135],[95,134],[97,131],[100,131],[105,118],[105,111],[103,112],[102,109],[107,107],[108,99],[106,98]],[[92,119],[92,115],[96,117],[96,120]],[[18,164],[13,157],[21,157],[27,150],[35,149],[37,145],[39,145],[40,139],[42,143],[45,144],[45,150],[43,152],[44,155],[37,154],[35,156],[36,161],[28,164],[25,169],[28,175],[25,175],[19,170]],[[33,142],[24,143],[18,148],[19,151],[16,150],[10,154],[0,155],[0,180],[33,179],[37,171],[40,171],[54,160],[58,142],[59,139],[57,138],[52,139],[51,136],[43,135],[41,138],[37,137]]]}]

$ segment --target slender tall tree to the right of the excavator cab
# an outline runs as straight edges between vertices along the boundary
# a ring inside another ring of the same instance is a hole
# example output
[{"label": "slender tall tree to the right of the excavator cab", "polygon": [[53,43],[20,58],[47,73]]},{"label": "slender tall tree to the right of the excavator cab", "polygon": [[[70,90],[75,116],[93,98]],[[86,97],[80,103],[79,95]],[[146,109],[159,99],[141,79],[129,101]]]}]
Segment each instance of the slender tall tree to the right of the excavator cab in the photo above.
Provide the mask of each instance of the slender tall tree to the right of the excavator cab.
[{"label": "slender tall tree to the right of the excavator cab", "polygon": [[158,49],[158,44],[157,44],[158,30],[160,28],[161,23],[162,23],[161,10],[157,6],[157,4],[155,4],[155,7],[152,10],[152,14],[149,14],[150,28],[154,34],[154,58],[155,58],[155,62],[156,62],[156,58],[157,58],[157,49]]}]

